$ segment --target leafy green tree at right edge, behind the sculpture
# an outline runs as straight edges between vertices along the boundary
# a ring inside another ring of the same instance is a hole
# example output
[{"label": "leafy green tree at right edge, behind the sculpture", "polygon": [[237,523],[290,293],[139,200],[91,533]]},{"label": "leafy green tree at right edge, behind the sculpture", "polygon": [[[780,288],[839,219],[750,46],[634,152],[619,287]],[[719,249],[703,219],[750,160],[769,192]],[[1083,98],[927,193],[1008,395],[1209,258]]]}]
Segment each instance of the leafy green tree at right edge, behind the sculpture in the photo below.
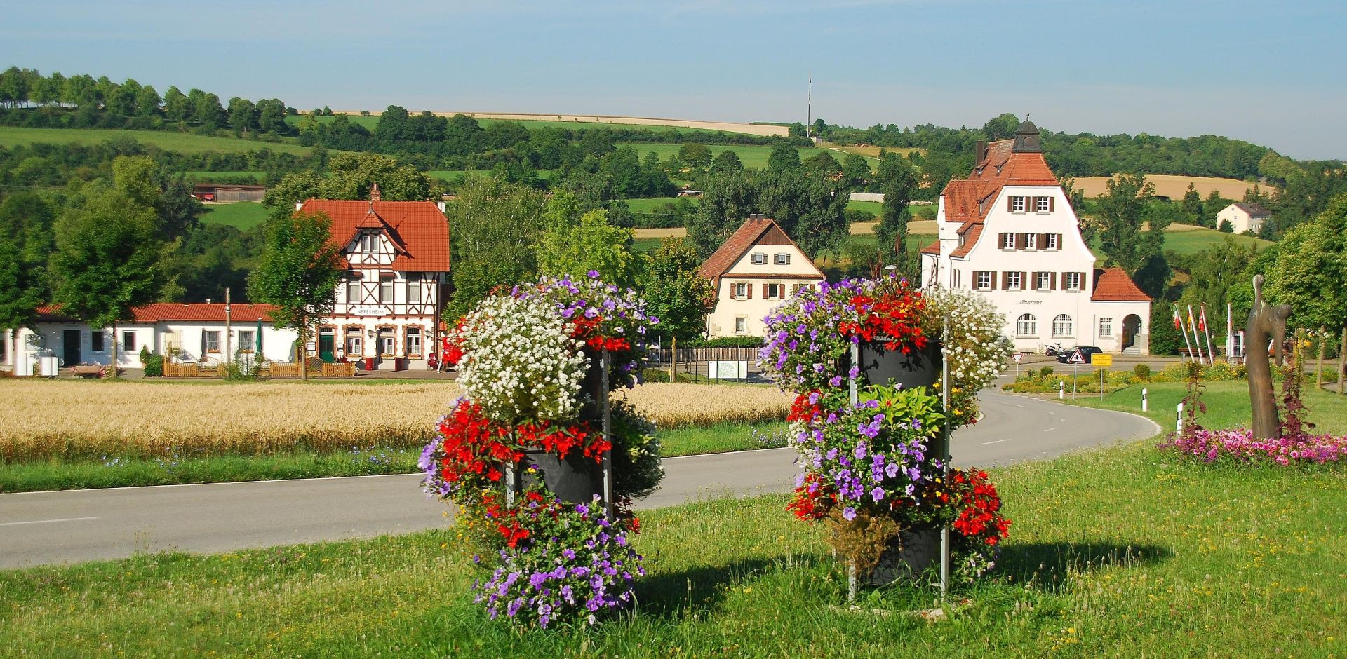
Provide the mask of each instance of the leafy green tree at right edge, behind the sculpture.
[{"label": "leafy green tree at right edge, behind the sculpture", "polygon": [[1294,327],[1347,327],[1347,194],[1286,231],[1266,277],[1268,299],[1290,305]]}]

